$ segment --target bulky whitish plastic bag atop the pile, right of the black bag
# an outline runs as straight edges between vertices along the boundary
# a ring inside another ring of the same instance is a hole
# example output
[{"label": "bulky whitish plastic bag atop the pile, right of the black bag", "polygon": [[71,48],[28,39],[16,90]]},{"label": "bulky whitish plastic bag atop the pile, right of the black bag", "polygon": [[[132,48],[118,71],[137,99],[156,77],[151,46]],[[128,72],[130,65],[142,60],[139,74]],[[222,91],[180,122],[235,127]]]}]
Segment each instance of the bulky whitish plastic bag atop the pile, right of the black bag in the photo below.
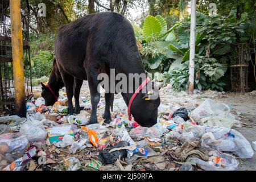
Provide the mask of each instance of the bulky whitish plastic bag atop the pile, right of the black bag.
[{"label": "bulky whitish plastic bag atop the pile, right of the black bag", "polygon": [[195,121],[200,121],[200,119],[209,116],[219,116],[223,118],[235,119],[235,117],[230,113],[228,105],[222,102],[214,102],[210,99],[205,100],[191,113],[191,117]]}]

